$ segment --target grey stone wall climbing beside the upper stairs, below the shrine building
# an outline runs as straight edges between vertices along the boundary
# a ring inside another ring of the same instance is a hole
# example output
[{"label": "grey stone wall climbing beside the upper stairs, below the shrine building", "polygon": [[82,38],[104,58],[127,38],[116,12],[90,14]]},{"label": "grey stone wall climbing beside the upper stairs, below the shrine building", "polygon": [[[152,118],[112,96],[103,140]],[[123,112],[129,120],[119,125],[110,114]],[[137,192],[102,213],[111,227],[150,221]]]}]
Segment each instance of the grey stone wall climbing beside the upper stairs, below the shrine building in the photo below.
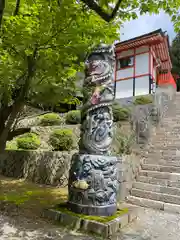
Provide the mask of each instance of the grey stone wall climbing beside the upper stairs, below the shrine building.
[{"label": "grey stone wall climbing beside the upper stairs, below the shrine building", "polygon": [[165,85],[158,87],[153,95],[153,103],[135,106],[132,111],[131,125],[138,144],[147,144],[156,127],[170,111],[175,89]]}]

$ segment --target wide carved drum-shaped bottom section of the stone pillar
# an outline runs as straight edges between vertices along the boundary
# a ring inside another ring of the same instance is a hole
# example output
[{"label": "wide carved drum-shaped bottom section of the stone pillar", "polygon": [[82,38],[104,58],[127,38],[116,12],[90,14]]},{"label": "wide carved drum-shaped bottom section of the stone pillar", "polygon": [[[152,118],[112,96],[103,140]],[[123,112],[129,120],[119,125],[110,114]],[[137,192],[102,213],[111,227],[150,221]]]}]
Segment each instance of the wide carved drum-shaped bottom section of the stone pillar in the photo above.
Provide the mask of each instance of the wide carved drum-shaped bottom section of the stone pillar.
[{"label": "wide carved drum-shaped bottom section of the stone pillar", "polygon": [[117,164],[115,156],[73,155],[68,196],[71,211],[85,215],[114,215],[119,187]]}]

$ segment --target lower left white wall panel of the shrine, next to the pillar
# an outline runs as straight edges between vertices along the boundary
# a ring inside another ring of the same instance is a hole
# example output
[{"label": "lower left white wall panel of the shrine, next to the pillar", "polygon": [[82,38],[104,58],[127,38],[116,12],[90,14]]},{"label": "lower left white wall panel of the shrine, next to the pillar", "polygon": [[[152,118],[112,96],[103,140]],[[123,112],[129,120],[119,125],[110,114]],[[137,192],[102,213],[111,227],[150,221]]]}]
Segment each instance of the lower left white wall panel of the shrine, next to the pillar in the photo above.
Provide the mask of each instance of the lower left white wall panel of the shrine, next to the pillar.
[{"label": "lower left white wall panel of the shrine, next to the pillar", "polygon": [[133,78],[116,82],[116,98],[133,96]]}]

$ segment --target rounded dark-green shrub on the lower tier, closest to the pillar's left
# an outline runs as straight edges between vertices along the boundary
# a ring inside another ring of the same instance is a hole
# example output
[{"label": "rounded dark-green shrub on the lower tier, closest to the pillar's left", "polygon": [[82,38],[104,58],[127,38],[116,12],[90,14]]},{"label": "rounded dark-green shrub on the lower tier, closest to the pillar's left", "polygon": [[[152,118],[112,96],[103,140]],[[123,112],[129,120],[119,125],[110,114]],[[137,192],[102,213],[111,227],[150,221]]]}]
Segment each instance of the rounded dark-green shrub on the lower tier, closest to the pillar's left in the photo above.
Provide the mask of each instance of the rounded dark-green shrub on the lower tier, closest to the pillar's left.
[{"label": "rounded dark-green shrub on the lower tier, closest to the pillar's left", "polygon": [[73,148],[73,132],[71,129],[56,129],[50,136],[50,144],[55,151],[68,151]]}]

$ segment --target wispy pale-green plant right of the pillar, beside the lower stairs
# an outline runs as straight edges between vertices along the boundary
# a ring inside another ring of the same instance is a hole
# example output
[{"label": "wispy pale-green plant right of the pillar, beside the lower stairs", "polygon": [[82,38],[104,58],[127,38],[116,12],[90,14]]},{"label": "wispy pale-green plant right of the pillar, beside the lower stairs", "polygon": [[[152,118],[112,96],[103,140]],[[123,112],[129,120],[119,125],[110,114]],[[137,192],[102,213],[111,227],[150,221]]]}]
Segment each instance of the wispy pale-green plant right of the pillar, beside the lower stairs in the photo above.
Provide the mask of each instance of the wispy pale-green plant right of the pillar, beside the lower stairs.
[{"label": "wispy pale-green plant right of the pillar, beside the lower stairs", "polygon": [[120,155],[131,154],[134,141],[135,141],[134,134],[131,134],[131,135],[125,135],[122,133],[117,134],[116,136],[117,153]]}]

